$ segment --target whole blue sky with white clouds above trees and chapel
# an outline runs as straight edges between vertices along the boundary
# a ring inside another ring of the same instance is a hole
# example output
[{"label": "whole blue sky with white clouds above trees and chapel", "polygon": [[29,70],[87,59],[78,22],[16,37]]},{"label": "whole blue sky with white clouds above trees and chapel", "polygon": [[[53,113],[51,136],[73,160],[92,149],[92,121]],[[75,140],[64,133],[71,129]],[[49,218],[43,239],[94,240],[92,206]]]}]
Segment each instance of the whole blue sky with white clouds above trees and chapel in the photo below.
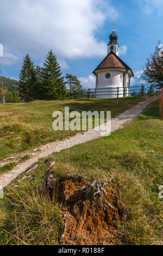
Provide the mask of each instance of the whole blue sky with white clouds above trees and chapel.
[{"label": "whole blue sky with white clouds above trees and chapel", "polygon": [[163,38],[163,0],[5,0],[0,9],[0,57],[3,75],[15,77],[28,52],[42,65],[51,48],[62,73],[76,75],[84,88],[95,86],[92,71],[106,56],[109,35],[116,24],[121,56],[135,78]]}]

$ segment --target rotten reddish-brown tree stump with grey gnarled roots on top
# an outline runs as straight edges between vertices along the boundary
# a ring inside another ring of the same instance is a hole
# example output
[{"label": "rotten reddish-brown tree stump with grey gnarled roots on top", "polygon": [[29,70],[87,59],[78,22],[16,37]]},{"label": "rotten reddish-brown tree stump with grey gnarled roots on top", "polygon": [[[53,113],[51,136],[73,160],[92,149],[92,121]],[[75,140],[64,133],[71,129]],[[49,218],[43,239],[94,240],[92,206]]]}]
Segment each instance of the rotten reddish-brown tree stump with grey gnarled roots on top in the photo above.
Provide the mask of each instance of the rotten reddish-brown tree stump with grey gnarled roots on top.
[{"label": "rotten reddish-brown tree stump with grey gnarled roots on top", "polygon": [[108,183],[88,181],[80,174],[55,178],[48,168],[45,187],[61,207],[62,245],[113,245],[112,239],[118,239],[114,223],[121,216],[114,188]]}]

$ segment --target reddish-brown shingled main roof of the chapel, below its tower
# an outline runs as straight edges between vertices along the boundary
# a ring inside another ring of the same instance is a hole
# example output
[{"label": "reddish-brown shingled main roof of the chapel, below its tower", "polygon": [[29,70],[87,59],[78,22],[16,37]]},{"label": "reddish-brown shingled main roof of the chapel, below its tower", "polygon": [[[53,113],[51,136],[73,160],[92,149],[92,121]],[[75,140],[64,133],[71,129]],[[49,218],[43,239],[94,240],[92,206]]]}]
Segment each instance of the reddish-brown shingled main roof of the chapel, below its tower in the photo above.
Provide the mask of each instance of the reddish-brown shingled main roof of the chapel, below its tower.
[{"label": "reddish-brown shingled main roof of the chapel, below its tower", "polygon": [[[131,70],[129,66],[123,62],[122,59],[120,59],[113,51],[111,51],[104,60],[97,66],[97,68],[93,71],[93,74],[96,73],[97,70],[101,69],[125,69],[125,70]],[[132,75],[133,71],[131,70]]]}]

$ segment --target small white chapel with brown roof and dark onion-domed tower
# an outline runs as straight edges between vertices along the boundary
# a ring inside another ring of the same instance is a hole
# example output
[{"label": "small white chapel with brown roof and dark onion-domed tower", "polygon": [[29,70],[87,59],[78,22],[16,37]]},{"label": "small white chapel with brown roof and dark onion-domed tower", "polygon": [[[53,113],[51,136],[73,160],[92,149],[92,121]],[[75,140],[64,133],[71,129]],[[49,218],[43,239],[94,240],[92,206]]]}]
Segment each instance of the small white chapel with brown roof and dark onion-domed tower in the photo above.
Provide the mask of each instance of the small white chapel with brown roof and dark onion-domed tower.
[{"label": "small white chapel with brown roof and dark onion-domed tower", "polygon": [[118,57],[118,35],[115,27],[109,36],[108,55],[93,71],[96,75],[96,98],[130,96],[130,79],[134,76],[129,66]]}]

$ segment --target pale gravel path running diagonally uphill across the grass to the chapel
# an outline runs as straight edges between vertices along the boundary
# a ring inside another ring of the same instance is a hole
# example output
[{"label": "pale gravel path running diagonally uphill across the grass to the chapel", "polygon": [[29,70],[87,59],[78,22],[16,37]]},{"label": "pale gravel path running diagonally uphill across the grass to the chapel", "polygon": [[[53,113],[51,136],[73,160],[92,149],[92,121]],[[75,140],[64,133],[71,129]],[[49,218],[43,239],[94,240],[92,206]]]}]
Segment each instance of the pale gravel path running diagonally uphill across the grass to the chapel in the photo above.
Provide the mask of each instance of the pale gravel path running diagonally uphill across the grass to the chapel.
[{"label": "pale gravel path running diagonally uphill across the grass to the chapel", "polygon": [[[147,100],[140,102],[138,105],[128,109],[124,113],[118,115],[116,118],[111,119],[111,132],[114,132],[118,129],[123,128],[123,125],[127,123],[127,121],[132,120],[136,115],[142,113],[143,109],[147,107],[149,103],[154,100],[157,100],[158,97],[148,97]],[[109,123],[108,123],[109,125]],[[101,127],[104,125],[101,125]],[[90,130],[86,131],[83,134],[77,134],[76,136],[65,139],[64,141],[60,142],[52,142],[46,145],[42,145],[39,151],[35,151],[31,155],[31,158],[25,162],[18,164],[14,169],[10,170],[9,172],[2,174],[0,176],[0,186],[5,187],[7,186],[12,180],[14,180],[17,175],[24,172],[28,167],[35,164],[41,157],[47,157],[54,152],[59,152],[63,149],[71,148],[74,145],[82,144],[87,141],[91,141],[92,139],[96,139],[101,137],[100,130]]]}]

